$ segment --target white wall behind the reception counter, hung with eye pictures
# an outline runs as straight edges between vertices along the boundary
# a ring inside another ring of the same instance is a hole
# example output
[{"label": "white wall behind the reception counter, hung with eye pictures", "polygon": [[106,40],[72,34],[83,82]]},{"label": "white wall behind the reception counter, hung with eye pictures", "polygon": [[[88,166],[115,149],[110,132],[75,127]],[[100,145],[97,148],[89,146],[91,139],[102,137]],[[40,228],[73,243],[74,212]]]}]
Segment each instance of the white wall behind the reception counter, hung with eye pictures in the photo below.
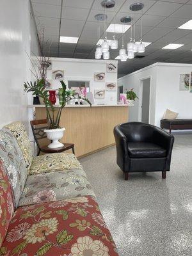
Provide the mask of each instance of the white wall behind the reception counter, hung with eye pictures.
[{"label": "white wall behind the reception counter, hung with eye pictures", "polygon": [[[59,69],[64,70],[64,81],[68,85],[68,80],[82,80],[90,81],[90,91],[93,92],[95,89],[106,89],[106,82],[117,83],[117,72],[107,73],[106,63],[115,63],[116,66],[118,61],[111,60],[84,60],[84,59],[68,59],[68,58],[51,58],[52,70]],[[104,72],[106,73],[105,81],[94,81],[94,73]],[[51,70],[47,72],[47,79],[51,80]],[[61,87],[60,81],[52,80],[52,88]],[[116,91],[106,91],[105,99],[94,99],[95,104],[116,104]]]}]

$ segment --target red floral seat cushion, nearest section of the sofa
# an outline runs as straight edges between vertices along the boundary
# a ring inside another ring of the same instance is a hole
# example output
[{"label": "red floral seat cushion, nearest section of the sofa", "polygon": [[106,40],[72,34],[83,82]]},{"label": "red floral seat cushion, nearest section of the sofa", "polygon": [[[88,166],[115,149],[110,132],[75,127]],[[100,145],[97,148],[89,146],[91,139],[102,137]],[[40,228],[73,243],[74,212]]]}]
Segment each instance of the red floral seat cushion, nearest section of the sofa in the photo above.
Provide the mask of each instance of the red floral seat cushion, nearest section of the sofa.
[{"label": "red floral seat cushion, nearest section of the sofa", "polygon": [[19,207],[1,250],[6,255],[28,256],[118,255],[90,196]]}]

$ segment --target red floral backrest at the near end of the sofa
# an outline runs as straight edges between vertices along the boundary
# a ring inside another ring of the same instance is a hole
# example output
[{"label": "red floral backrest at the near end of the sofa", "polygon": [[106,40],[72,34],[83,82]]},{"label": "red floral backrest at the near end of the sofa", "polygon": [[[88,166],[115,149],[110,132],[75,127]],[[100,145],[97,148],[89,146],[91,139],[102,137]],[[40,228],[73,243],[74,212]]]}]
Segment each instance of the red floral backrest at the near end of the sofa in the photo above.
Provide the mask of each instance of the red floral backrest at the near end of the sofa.
[{"label": "red floral backrest at the near end of the sofa", "polygon": [[13,216],[12,188],[5,166],[0,159],[0,248]]}]

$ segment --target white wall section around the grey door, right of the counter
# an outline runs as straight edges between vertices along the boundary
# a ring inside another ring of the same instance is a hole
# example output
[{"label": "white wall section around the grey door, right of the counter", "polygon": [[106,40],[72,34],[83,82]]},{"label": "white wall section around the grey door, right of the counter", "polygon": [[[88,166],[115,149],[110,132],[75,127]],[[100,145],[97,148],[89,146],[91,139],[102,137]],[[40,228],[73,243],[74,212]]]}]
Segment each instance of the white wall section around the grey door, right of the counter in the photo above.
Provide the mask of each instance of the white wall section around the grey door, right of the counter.
[{"label": "white wall section around the grey door, right of the counter", "polygon": [[156,110],[156,65],[150,65],[147,68],[142,68],[136,72],[133,72],[127,76],[118,79],[118,86],[124,86],[124,93],[126,90],[134,88],[134,92],[138,96],[139,100],[136,99],[134,106],[129,108],[129,121],[141,121],[139,116],[139,109],[141,107],[141,80],[150,77],[150,116],[149,123],[155,123],[155,110]]}]

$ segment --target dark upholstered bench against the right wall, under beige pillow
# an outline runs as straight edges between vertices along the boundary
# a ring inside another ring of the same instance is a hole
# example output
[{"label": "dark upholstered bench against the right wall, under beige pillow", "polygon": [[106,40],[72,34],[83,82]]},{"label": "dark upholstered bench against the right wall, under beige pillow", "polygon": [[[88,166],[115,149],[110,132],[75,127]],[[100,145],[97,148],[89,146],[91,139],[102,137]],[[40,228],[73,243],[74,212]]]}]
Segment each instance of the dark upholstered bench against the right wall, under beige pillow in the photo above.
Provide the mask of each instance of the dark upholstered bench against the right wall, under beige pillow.
[{"label": "dark upholstered bench against the right wall, under beige pillow", "polygon": [[162,119],[161,128],[172,130],[189,130],[192,129],[192,119]]}]

